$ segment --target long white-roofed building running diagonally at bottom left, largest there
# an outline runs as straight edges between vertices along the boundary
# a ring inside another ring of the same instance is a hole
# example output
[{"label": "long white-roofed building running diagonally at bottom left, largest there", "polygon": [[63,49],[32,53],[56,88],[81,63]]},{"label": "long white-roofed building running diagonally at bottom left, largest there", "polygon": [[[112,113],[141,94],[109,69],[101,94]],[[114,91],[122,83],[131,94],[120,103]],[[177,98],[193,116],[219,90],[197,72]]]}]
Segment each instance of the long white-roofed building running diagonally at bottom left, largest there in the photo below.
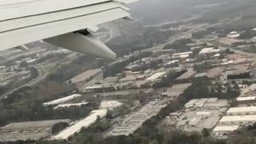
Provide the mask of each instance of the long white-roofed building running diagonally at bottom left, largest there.
[{"label": "long white-roofed building running diagonally at bottom left, largest there", "polygon": [[107,110],[93,110],[90,115],[81,121],[75,123],[73,126],[67,127],[59,134],[55,135],[53,140],[68,140],[75,133],[79,133],[82,127],[87,128],[97,121],[97,118],[104,118]]}]

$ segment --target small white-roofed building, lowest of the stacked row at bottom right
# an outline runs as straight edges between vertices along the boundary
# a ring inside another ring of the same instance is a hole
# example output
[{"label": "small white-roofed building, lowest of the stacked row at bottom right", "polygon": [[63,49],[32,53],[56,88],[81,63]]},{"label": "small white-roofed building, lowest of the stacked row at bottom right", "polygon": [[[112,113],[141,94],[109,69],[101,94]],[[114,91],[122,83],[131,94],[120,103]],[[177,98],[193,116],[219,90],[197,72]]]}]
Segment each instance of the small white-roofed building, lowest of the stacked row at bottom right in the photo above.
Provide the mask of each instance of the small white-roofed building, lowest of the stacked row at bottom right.
[{"label": "small white-roofed building, lowest of the stacked row at bottom right", "polygon": [[216,126],[213,130],[213,134],[216,136],[223,135],[223,134],[229,134],[230,132],[234,130],[238,130],[239,125],[234,126]]}]

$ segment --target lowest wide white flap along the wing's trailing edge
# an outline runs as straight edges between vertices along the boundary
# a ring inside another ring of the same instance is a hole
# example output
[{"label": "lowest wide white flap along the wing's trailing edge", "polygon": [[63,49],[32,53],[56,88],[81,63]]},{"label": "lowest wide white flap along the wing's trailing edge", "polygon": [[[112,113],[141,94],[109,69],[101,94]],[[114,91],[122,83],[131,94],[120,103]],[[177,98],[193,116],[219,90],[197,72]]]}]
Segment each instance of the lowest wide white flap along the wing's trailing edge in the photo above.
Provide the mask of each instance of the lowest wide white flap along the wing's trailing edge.
[{"label": "lowest wide white flap along the wing's trailing edge", "polygon": [[29,42],[35,42],[41,39],[74,32],[76,30],[94,27],[118,18],[126,18],[127,16],[130,16],[130,14],[125,10],[116,8],[58,22],[50,22],[43,25],[6,31],[0,33],[0,49],[7,50],[10,47],[22,46]]}]

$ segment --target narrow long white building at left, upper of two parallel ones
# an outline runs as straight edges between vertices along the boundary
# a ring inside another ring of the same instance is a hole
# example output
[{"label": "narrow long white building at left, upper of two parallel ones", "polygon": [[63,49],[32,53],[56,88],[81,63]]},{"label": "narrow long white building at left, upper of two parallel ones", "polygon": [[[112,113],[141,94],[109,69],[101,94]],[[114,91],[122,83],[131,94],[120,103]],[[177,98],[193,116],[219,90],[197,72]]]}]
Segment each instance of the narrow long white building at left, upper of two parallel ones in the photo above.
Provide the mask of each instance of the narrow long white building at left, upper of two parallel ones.
[{"label": "narrow long white building at left, upper of two parallel ones", "polygon": [[81,94],[72,94],[72,95],[64,97],[64,98],[55,99],[54,101],[44,102],[42,104],[42,106],[54,106],[54,105],[62,104],[64,102],[70,102],[71,100],[73,100],[75,98],[81,98],[81,97],[82,97]]}]

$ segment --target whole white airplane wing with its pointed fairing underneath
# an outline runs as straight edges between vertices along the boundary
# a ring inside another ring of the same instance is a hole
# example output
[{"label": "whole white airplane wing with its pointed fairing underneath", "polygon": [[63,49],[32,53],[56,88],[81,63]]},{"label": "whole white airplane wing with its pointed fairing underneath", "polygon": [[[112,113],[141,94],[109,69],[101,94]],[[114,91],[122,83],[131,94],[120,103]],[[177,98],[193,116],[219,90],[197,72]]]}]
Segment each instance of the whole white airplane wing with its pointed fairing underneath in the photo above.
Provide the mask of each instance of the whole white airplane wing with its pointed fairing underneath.
[{"label": "whole white airplane wing with its pointed fairing underneath", "polygon": [[90,31],[118,18],[136,0],[0,0],[0,50],[44,40],[68,50],[116,58]]}]

